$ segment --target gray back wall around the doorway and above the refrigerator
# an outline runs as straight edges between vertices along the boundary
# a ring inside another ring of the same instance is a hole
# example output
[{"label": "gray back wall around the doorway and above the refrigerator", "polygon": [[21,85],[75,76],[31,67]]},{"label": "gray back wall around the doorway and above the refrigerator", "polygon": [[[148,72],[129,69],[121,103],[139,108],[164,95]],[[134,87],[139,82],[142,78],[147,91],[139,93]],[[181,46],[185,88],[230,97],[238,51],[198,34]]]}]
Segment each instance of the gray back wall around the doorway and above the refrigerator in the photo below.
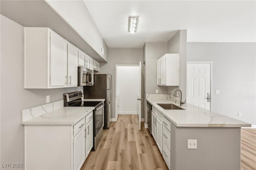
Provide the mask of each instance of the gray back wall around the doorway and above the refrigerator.
[{"label": "gray back wall around the doorway and above the refrigerator", "polygon": [[[139,64],[142,62],[142,48],[108,48],[108,63],[100,63],[100,72],[98,74],[109,73],[112,75],[112,96],[116,96],[116,64]],[[115,118],[116,98],[112,101],[112,115]],[[144,115],[142,114],[142,118]]]}]

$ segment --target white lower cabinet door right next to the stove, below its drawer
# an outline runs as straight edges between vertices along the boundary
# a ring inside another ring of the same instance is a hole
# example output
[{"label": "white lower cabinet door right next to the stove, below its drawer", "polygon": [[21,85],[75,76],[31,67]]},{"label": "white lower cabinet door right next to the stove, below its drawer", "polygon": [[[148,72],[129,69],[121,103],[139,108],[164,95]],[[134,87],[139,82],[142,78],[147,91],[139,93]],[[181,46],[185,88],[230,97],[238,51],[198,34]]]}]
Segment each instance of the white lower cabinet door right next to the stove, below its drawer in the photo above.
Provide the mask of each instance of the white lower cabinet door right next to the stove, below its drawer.
[{"label": "white lower cabinet door right next to the stove, below its drawer", "polygon": [[86,142],[85,142],[85,154],[86,158],[93,147],[93,119],[86,125]]}]

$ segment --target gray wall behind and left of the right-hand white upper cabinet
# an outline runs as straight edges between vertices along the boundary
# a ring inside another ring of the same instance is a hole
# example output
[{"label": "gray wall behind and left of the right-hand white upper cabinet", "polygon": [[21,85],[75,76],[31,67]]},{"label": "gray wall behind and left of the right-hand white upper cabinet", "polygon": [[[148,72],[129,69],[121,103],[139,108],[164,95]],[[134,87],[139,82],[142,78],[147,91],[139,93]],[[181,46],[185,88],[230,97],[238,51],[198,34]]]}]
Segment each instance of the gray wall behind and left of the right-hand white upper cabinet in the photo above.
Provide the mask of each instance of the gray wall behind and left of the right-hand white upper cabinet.
[{"label": "gray wall behind and left of the right-hand white upper cabinet", "polygon": [[158,86],[157,80],[157,60],[167,53],[167,42],[146,42],[145,43],[145,84],[146,94],[155,94],[158,89],[159,94],[166,94],[166,86]]}]

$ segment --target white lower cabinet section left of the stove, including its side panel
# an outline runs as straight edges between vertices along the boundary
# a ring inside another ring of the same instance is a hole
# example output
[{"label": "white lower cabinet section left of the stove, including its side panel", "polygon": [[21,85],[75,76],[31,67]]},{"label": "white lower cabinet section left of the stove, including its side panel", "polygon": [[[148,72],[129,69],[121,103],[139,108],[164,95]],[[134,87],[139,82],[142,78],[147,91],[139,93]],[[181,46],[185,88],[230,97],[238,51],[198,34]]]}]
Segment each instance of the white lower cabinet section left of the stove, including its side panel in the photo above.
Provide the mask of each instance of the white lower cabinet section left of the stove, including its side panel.
[{"label": "white lower cabinet section left of the stove, including its side panel", "polygon": [[93,147],[92,115],[75,125],[25,125],[25,169],[80,170]]}]

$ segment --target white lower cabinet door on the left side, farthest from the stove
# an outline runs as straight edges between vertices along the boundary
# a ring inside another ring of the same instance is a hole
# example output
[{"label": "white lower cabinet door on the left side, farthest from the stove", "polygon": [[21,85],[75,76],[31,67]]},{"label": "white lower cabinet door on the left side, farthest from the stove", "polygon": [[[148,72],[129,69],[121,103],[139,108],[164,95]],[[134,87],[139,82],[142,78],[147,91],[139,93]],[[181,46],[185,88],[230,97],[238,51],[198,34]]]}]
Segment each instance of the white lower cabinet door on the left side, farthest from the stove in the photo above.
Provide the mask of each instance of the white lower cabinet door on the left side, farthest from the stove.
[{"label": "white lower cabinet door on the left side, farthest from the stove", "polygon": [[73,166],[74,170],[80,170],[82,167],[84,160],[85,160],[85,127],[83,125],[83,128],[74,136],[74,146],[73,146]]}]

